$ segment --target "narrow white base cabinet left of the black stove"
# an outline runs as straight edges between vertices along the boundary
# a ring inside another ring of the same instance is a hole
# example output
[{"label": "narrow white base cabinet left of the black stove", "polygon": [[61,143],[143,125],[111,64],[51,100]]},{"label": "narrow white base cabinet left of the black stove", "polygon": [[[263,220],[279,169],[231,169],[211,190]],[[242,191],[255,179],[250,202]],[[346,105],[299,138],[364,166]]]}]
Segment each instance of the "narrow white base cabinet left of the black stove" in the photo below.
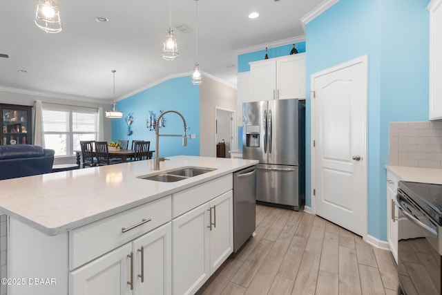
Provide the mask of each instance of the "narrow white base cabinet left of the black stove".
[{"label": "narrow white base cabinet left of the black stove", "polygon": [[398,178],[387,171],[387,240],[394,260],[398,263],[398,207],[394,204]]}]

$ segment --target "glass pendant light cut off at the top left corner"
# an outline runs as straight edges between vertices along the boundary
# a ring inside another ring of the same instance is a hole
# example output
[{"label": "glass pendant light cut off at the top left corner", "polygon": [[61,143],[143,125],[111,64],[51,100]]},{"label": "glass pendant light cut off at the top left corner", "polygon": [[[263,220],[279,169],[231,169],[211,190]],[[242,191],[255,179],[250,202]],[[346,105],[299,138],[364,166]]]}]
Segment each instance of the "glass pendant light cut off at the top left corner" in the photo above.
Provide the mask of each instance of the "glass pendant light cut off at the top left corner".
[{"label": "glass pendant light cut off at the top left corner", "polygon": [[61,32],[60,12],[57,0],[37,0],[35,24],[45,32]]}]

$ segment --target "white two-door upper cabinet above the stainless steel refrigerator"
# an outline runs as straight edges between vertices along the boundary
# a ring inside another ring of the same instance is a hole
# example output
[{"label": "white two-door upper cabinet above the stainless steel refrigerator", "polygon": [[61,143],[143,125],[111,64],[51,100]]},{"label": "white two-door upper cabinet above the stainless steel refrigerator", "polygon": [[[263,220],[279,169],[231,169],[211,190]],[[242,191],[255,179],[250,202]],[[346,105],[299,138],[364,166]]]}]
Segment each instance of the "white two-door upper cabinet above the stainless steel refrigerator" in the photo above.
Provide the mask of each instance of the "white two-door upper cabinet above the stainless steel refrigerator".
[{"label": "white two-door upper cabinet above the stainless steel refrigerator", "polygon": [[250,63],[251,101],[305,98],[305,53]]}]

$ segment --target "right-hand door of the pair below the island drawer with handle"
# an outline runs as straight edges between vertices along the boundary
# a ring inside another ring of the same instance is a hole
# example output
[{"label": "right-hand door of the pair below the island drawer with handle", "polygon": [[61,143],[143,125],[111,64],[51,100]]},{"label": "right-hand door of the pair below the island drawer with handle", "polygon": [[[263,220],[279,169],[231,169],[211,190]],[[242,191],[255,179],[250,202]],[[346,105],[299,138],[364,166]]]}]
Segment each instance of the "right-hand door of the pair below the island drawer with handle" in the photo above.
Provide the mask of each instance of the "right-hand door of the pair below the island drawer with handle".
[{"label": "right-hand door of the pair below the island drawer with handle", "polygon": [[133,254],[133,294],[172,294],[171,222],[134,240]]}]

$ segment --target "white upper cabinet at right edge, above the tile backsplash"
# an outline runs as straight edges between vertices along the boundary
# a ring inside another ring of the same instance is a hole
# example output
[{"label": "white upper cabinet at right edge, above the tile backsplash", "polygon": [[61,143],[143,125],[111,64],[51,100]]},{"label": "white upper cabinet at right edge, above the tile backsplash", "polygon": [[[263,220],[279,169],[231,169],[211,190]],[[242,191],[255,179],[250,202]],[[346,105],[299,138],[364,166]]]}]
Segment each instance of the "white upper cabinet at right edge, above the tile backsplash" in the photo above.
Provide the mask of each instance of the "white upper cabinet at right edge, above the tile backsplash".
[{"label": "white upper cabinet at right edge, above the tile backsplash", "polygon": [[442,119],[442,0],[432,0],[430,11],[430,120]]}]

